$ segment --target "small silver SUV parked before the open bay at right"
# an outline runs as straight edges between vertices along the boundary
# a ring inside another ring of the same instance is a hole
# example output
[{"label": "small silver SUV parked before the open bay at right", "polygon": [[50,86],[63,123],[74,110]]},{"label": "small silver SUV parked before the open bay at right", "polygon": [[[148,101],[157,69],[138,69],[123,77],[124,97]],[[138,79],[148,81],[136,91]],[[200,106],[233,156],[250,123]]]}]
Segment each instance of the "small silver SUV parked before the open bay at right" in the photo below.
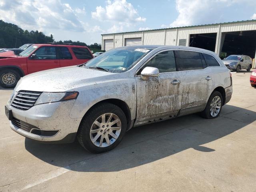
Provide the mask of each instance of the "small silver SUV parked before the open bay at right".
[{"label": "small silver SUV parked before the open bay at right", "polygon": [[246,69],[249,72],[252,68],[252,58],[247,55],[230,55],[223,60],[223,63],[228,69],[236,72],[241,69]]}]

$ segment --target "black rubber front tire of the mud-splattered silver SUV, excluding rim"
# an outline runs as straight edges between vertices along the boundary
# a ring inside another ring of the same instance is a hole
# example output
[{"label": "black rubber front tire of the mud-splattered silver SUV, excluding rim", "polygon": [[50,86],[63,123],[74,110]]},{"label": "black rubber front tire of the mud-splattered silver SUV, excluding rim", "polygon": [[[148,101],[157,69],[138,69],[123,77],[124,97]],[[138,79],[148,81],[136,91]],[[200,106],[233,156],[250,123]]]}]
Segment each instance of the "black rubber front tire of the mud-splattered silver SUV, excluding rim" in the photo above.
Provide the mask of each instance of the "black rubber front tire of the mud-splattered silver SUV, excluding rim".
[{"label": "black rubber front tire of the mud-splattered silver SUV, excluding rim", "polygon": [[[93,144],[90,138],[90,129],[94,123],[94,121],[101,116],[102,114],[113,113],[118,116],[121,121],[121,132],[116,141],[110,146],[106,147],[98,147]],[[86,150],[92,153],[102,153],[107,152],[115,148],[122,140],[127,128],[127,120],[124,112],[118,106],[112,103],[101,103],[94,106],[92,109],[88,111],[88,113],[82,119],[80,123],[77,139],[78,142],[84,147]]]}]

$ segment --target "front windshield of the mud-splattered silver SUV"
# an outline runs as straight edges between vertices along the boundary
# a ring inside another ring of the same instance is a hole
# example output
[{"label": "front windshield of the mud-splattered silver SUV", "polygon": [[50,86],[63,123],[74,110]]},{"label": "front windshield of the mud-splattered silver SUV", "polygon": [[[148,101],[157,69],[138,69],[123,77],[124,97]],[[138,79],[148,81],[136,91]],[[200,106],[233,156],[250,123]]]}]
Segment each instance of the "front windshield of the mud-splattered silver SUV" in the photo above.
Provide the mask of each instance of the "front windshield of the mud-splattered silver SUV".
[{"label": "front windshield of the mud-splattered silver SUV", "polygon": [[85,67],[100,67],[110,72],[124,72],[129,70],[151,50],[152,49],[134,47],[115,48],[88,61]]}]

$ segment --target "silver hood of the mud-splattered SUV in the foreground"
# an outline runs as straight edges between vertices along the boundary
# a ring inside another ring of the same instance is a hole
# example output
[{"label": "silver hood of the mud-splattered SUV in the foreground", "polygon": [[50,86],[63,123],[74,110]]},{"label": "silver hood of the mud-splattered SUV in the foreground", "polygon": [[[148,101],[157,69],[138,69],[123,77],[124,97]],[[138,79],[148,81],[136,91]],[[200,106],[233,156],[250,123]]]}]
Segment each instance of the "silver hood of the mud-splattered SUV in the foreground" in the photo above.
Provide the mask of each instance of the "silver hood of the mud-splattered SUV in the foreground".
[{"label": "silver hood of the mud-splattered SUV in the foreground", "polygon": [[20,79],[16,91],[62,92],[76,90],[87,84],[96,84],[116,73],[70,66],[40,71]]}]

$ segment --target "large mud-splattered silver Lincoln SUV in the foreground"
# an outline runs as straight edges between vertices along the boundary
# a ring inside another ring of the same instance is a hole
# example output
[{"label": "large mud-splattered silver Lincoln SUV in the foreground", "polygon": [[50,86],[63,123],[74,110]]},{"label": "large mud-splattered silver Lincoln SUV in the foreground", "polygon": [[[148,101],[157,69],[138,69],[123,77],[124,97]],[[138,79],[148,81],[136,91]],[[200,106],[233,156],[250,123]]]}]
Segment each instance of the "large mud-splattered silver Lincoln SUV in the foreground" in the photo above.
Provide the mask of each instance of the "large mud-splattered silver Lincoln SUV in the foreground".
[{"label": "large mud-splattered silver Lincoln SUV in the foreground", "polygon": [[[110,60],[115,56],[123,58]],[[214,52],[129,46],[21,78],[5,110],[12,130],[25,137],[54,143],[77,137],[99,153],[132,127],[196,112],[216,118],[231,95],[231,73]]]}]

